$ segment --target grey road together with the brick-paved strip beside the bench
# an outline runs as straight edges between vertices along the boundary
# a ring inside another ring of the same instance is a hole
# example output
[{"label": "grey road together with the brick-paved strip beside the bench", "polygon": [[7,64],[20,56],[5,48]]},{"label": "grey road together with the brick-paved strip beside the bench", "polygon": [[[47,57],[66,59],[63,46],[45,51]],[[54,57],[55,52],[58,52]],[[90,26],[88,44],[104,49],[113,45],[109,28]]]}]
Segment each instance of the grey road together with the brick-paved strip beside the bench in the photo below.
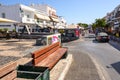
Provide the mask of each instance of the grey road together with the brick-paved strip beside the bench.
[{"label": "grey road together with the brick-paved strip beside the bench", "polygon": [[65,45],[74,56],[65,80],[100,80],[95,65],[103,80],[120,80],[120,51],[109,43],[98,43],[93,38],[85,38],[85,41],[78,40]]}]

